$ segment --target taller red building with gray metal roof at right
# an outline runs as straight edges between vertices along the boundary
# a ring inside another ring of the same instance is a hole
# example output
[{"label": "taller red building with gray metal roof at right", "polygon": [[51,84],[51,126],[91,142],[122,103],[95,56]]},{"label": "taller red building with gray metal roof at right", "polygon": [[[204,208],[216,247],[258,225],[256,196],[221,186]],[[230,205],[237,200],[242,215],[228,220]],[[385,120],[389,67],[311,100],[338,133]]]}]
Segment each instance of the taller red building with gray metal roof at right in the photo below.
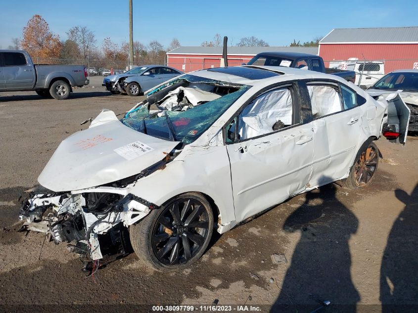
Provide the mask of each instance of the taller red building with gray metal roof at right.
[{"label": "taller red building with gray metal roof at right", "polygon": [[382,60],[385,73],[418,66],[418,27],[333,29],[319,45],[325,61]]}]

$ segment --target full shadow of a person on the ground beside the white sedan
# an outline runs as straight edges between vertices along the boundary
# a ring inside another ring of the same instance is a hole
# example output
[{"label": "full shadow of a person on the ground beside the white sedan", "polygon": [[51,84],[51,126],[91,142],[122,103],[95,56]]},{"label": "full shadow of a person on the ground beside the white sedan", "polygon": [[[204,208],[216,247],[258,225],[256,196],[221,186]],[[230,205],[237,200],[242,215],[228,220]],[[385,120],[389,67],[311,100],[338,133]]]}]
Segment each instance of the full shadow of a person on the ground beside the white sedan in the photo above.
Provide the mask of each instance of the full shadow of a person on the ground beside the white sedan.
[{"label": "full shadow of a person on the ground beside the white sedan", "polygon": [[271,313],[312,312],[322,306],[322,312],[356,312],[360,295],[351,279],[349,239],[359,222],[336,191],[335,184],[327,184],[308,192],[285,220],[284,231],[299,232],[300,239]]}]

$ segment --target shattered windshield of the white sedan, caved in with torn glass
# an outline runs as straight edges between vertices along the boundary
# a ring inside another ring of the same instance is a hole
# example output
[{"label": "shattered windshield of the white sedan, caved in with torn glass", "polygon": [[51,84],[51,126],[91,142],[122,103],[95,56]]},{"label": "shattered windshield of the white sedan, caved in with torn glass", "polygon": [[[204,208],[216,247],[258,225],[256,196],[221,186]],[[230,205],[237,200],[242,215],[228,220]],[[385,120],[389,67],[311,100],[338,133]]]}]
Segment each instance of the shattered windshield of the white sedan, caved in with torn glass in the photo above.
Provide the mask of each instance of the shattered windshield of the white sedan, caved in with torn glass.
[{"label": "shattered windshield of the white sedan, caved in with torn glass", "polygon": [[191,143],[249,88],[182,75],[149,91],[147,99],[127,112],[121,122],[144,134]]}]

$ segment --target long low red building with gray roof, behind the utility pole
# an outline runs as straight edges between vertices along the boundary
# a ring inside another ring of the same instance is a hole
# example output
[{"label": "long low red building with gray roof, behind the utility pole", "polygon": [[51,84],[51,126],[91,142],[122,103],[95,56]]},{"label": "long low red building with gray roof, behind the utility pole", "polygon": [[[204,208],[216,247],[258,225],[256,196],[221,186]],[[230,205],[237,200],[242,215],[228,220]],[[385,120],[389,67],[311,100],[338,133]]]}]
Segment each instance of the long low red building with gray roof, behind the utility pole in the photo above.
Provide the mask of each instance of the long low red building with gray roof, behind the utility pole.
[{"label": "long low red building with gray roof, behind the utility pole", "polygon": [[[219,67],[223,47],[181,46],[167,52],[167,65],[183,72]],[[283,51],[318,54],[318,47],[228,47],[228,65],[247,63],[260,52]]]}]

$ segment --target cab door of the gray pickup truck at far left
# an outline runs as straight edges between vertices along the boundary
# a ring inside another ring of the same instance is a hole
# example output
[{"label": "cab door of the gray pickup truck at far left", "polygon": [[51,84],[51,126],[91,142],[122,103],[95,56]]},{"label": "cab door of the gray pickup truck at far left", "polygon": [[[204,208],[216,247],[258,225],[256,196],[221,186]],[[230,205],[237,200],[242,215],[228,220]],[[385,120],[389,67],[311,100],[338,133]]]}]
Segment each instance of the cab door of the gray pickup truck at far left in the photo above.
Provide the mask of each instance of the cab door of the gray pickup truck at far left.
[{"label": "cab door of the gray pickup truck at far left", "polygon": [[35,69],[22,52],[3,52],[3,65],[6,90],[33,89]]}]

